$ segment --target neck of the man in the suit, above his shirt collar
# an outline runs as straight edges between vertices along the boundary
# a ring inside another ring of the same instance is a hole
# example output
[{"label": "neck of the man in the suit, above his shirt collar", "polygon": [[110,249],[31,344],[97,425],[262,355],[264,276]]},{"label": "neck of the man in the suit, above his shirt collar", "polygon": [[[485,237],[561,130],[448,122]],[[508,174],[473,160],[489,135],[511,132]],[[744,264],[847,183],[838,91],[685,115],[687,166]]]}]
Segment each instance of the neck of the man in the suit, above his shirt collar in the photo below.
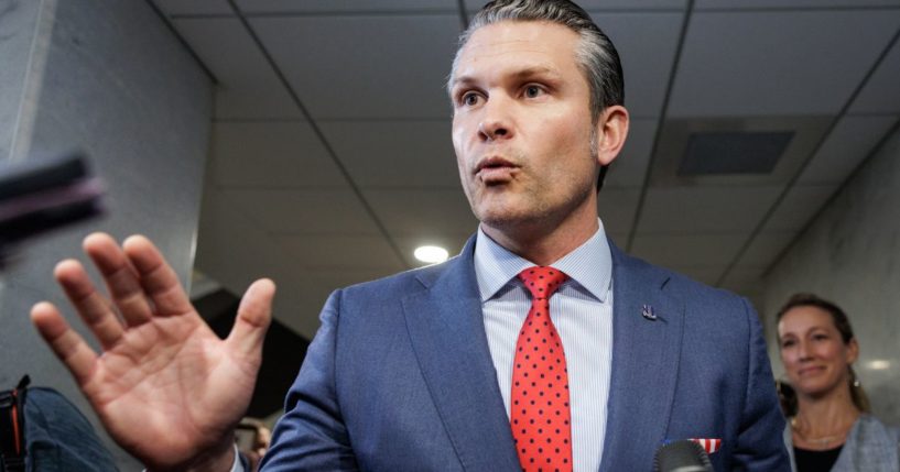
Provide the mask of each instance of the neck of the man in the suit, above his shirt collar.
[{"label": "neck of the man in the suit, above his shirt collar", "polygon": [[559,224],[518,223],[502,228],[481,223],[481,230],[511,253],[536,265],[550,265],[578,249],[597,232],[596,212],[571,215]]}]

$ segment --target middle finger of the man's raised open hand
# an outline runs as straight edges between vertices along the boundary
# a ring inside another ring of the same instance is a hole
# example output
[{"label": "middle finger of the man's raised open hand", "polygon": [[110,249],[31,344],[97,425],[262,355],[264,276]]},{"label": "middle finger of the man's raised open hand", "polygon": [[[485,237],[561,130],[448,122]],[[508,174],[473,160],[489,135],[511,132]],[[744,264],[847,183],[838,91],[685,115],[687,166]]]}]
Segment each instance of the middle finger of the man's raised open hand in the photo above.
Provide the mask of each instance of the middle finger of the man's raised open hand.
[{"label": "middle finger of the man's raised open hand", "polygon": [[116,240],[109,234],[94,233],[85,238],[84,250],[100,270],[112,301],[119,307],[128,326],[150,320],[153,311],[138,279],[137,271]]}]

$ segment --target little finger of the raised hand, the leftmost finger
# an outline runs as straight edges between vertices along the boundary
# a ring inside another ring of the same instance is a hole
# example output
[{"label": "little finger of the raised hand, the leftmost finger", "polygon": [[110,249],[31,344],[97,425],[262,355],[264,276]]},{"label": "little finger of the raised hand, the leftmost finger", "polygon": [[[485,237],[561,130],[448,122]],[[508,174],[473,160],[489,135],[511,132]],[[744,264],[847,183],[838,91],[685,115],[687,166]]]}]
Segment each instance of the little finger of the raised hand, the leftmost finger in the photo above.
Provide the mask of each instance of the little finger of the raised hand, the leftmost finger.
[{"label": "little finger of the raised hand, the leftmost finger", "polygon": [[31,321],[78,385],[86,384],[97,362],[97,354],[68,326],[56,307],[46,301],[35,305],[31,309]]}]

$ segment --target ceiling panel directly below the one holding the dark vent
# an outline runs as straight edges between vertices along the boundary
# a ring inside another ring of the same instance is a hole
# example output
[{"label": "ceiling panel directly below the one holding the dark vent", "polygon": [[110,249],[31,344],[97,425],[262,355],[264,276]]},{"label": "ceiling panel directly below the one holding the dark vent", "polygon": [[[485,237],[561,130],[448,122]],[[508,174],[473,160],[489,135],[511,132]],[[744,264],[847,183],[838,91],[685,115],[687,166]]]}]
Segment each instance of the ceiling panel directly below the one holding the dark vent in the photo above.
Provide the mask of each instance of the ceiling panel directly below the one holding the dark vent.
[{"label": "ceiling panel directly below the one holding the dark vent", "polygon": [[750,231],[779,191],[768,186],[651,188],[637,235]]}]

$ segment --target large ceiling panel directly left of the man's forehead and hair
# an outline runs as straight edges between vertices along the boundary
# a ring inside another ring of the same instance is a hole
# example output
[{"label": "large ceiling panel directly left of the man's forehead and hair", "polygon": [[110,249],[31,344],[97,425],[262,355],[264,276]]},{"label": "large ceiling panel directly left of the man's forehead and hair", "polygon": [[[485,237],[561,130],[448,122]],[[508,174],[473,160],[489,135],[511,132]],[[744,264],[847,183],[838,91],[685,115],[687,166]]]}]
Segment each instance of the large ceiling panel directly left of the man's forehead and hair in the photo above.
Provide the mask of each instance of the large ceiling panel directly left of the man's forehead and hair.
[{"label": "large ceiling panel directly left of the man's forehead and hair", "polygon": [[250,20],[316,119],[446,118],[457,15]]}]

